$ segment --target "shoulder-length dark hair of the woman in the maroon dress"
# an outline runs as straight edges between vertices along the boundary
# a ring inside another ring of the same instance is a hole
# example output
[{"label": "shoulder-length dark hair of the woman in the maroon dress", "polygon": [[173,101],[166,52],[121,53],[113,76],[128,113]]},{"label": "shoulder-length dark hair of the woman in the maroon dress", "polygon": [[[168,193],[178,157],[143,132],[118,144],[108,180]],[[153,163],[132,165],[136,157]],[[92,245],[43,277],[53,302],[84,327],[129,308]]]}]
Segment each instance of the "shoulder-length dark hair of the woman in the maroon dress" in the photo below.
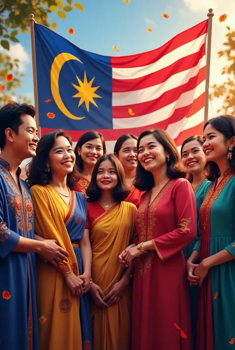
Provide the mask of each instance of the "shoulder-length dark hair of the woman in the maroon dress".
[{"label": "shoulder-length dark hair of the woman in the maroon dress", "polygon": [[[167,161],[167,176],[170,179],[177,179],[179,177],[185,178],[186,170],[182,165],[176,147],[176,143],[172,139],[172,137],[165,130],[162,129],[146,130],[139,136],[137,142],[138,150],[140,140],[147,135],[153,135],[155,139],[162,144],[165,151],[170,153],[170,160]],[[136,179],[134,182],[134,186],[140,191],[149,191],[154,186],[154,178],[152,173],[150,171],[145,170],[139,161],[136,168]]]}]

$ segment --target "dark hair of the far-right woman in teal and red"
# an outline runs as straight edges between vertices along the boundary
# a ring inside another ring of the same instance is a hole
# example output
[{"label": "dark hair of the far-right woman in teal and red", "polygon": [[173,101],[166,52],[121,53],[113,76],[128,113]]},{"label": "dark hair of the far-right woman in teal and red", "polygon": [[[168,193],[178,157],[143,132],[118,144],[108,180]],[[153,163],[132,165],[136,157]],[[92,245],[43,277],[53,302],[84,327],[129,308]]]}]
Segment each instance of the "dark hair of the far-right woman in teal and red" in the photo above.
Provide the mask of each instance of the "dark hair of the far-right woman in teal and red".
[{"label": "dark hair of the far-right woman in teal and red", "polygon": [[[221,115],[219,117],[212,118],[206,122],[204,125],[203,131],[207,125],[211,124],[213,128],[224,135],[226,140],[231,139],[235,136],[235,116],[230,114]],[[235,152],[234,149],[232,152],[232,159],[229,160],[230,169],[235,172]],[[205,175],[210,181],[214,181],[220,177],[220,169],[216,162],[206,162],[205,165]]]}]

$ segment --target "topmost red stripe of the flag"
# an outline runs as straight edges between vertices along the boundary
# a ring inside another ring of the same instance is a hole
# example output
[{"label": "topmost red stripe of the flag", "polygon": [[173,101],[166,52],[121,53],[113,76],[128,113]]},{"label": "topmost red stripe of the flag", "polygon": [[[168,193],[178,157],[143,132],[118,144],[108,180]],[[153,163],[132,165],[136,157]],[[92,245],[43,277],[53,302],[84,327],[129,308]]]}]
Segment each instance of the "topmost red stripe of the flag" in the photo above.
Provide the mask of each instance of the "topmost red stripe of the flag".
[{"label": "topmost red stripe of the flag", "polygon": [[133,68],[151,65],[152,63],[158,61],[162,56],[167,55],[168,53],[177,49],[179,46],[187,44],[207,33],[207,25],[208,20],[205,20],[194,27],[179,33],[158,49],[137,55],[111,57],[111,67]]}]

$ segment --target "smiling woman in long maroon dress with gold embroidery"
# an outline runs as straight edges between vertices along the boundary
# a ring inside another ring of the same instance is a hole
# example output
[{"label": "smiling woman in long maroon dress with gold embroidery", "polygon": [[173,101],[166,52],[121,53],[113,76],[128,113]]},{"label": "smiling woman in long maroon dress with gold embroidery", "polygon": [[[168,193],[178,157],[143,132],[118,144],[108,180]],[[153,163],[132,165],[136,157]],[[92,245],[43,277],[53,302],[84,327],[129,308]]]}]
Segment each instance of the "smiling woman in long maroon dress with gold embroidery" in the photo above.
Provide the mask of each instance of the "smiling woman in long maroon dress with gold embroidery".
[{"label": "smiling woman in long maroon dress with gold embroidery", "polygon": [[[158,137],[169,138],[166,132],[142,134],[138,140],[138,167],[146,173],[142,185],[148,184],[149,188],[135,216],[140,244],[128,247],[121,255],[126,265],[138,257],[133,282],[132,350],[192,350],[182,249],[196,237],[195,196],[183,178],[174,141],[170,148],[164,148]],[[136,186],[143,190],[138,167]],[[152,172],[152,178],[147,172]]]}]

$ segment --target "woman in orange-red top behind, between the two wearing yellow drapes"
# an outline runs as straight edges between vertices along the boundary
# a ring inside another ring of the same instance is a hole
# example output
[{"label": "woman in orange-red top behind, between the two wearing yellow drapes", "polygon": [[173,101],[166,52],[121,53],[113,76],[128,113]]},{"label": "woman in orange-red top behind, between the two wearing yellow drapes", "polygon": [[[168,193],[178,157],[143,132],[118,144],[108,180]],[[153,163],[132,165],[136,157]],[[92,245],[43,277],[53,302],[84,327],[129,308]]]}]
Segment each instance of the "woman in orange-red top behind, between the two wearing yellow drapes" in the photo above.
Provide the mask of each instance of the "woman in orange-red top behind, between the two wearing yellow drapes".
[{"label": "woman in orange-red top behind, between the two wearing yellow drapes", "polygon": [[97,160],[106,153],[106,144],[101,133],[88,131],[77,141],[74,148],[76,164],[80,178],[75,191],[81,192],[86,198],[86,189],[90,185],[91,175]]}]

